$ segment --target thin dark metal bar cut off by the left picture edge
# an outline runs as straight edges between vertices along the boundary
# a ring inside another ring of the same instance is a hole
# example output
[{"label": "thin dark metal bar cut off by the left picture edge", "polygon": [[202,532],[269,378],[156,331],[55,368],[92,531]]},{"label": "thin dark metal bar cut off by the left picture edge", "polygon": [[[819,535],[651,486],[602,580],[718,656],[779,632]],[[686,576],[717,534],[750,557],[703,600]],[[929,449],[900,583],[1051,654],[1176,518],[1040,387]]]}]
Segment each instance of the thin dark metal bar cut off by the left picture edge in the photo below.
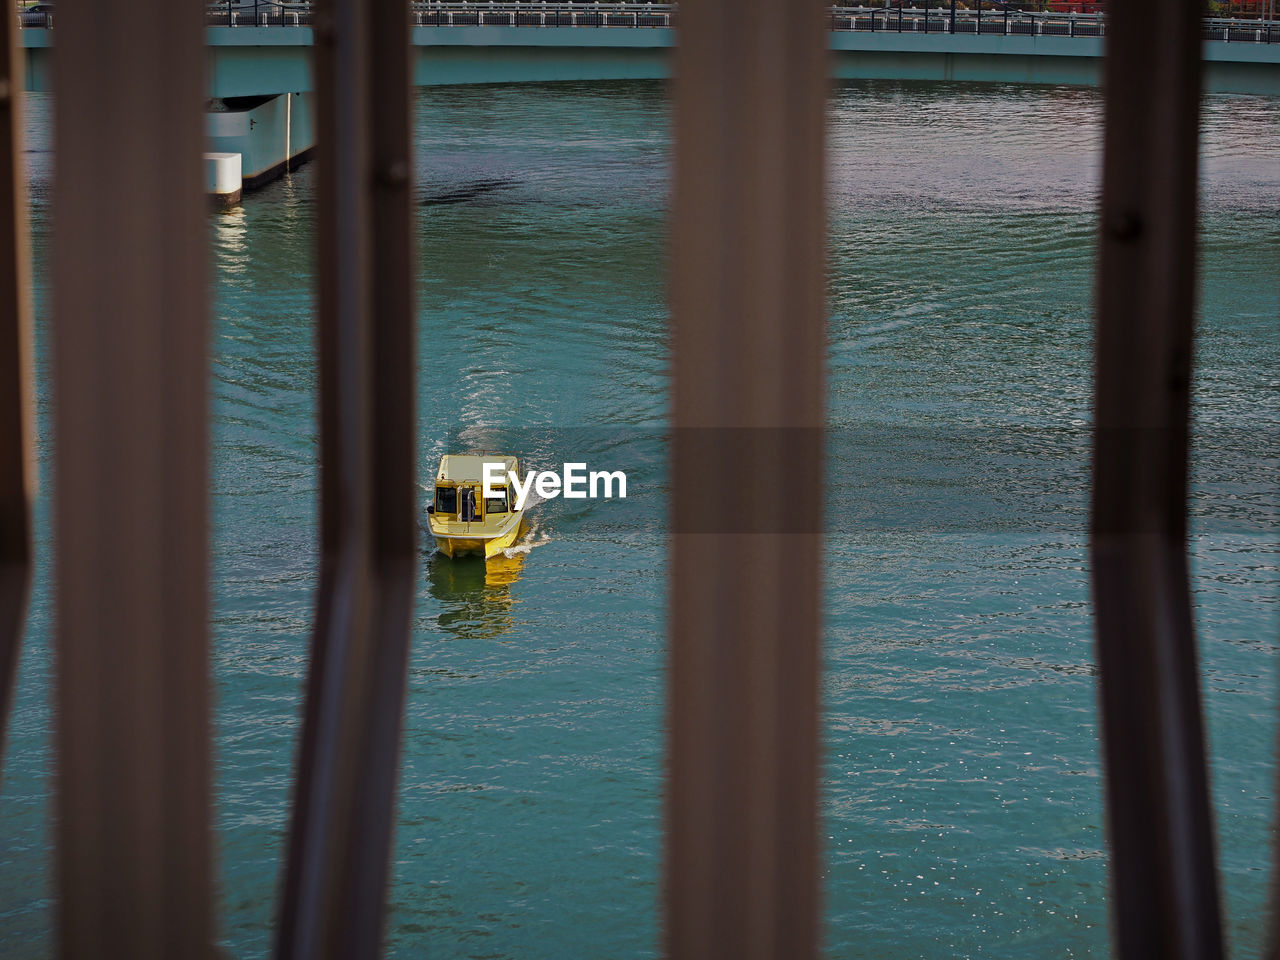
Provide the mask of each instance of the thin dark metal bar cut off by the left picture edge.
[{"label": "thin dark metal bar cut off by the left picture edge", "polygon": [[0,764],[31,589],[35,401],[31,253],[22,170],[22,54],[14,17],[0,18]]}]

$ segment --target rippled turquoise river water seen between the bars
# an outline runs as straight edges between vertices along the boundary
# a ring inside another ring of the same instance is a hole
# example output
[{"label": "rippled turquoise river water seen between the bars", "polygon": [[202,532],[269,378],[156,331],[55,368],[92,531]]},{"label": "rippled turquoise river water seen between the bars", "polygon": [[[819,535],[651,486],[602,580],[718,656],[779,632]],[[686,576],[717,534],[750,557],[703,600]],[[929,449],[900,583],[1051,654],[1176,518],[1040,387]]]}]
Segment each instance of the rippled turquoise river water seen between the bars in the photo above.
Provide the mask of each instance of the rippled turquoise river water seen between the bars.
[{"label": "rippled turquoise river water seen between the bars", "polygon": [[[1254,957],[1276,713],[1280,102],[1207,111],[1194,586],[1229,928]],[[424,475],[447,447],[497,438],[547,465],[612,453],[660,481],[667,123],[657,84],[420,95]],[[831,956],[1106,955],[1080,535],[1098,123],[1093,91],[856,84],[832,100],[829,452],[852,518],[827,548]],[[311,184],[303,168],[210,219],[234,956],[270,943],[315,586]],[[46,303],[41,289],[41,346]],[[489,570],[424,548],[390,956],[657,952],[666,548],[644,503],[541,504],[531,549]],[[5,956],[50,952],[44,502],[38,539],[0,794]]]}]

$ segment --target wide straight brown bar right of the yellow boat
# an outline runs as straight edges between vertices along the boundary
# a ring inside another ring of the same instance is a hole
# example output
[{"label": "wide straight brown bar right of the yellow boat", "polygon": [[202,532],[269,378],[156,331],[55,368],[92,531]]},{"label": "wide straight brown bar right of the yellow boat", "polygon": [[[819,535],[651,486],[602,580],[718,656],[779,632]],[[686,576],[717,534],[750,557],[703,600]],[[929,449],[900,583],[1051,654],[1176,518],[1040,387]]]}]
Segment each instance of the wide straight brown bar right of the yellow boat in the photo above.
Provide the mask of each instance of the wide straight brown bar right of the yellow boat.
[{"label": "wide straight brown bar right of the yellow boat", "polygon": [[826,13],[778,18],[769,0],[680,10],[664,891],[676,960],[817,952]]}]

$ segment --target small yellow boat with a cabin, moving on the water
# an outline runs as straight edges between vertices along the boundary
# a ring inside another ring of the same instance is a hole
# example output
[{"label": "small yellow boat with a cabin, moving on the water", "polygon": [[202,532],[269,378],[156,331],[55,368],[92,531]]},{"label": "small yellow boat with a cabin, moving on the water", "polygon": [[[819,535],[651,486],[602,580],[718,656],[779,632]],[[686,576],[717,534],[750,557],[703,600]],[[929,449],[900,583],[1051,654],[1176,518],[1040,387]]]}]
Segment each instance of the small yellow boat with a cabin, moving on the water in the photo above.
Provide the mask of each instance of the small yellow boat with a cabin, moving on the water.
[{"label": "small yellow boat with a cabin, moving on the water", "polygon": [[[502,466],[499,497],[484,495],[484,465]],[[426,507],[426,524],[445,557],[488,559],[511,547],[525,529],[525,512],[516,509],[509,474],[524,481],[520,458],[497,453],[445,453],[435,471],[435,492]]]}]

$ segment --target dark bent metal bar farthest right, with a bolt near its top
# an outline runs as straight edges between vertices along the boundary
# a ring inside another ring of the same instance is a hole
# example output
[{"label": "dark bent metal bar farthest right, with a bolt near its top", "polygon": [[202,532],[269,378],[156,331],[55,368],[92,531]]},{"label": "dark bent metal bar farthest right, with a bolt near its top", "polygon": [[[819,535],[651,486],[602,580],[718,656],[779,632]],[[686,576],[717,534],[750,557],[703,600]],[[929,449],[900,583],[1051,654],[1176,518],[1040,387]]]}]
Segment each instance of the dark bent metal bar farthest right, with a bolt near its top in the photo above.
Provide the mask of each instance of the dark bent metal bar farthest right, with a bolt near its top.
[{"label": "dark bent metal bar farthest right, with a bolt near its top", "polygon": [[1220,957],[1187,561],[1201,4],[1108,9],[1092,579],[1119,956]]}]

